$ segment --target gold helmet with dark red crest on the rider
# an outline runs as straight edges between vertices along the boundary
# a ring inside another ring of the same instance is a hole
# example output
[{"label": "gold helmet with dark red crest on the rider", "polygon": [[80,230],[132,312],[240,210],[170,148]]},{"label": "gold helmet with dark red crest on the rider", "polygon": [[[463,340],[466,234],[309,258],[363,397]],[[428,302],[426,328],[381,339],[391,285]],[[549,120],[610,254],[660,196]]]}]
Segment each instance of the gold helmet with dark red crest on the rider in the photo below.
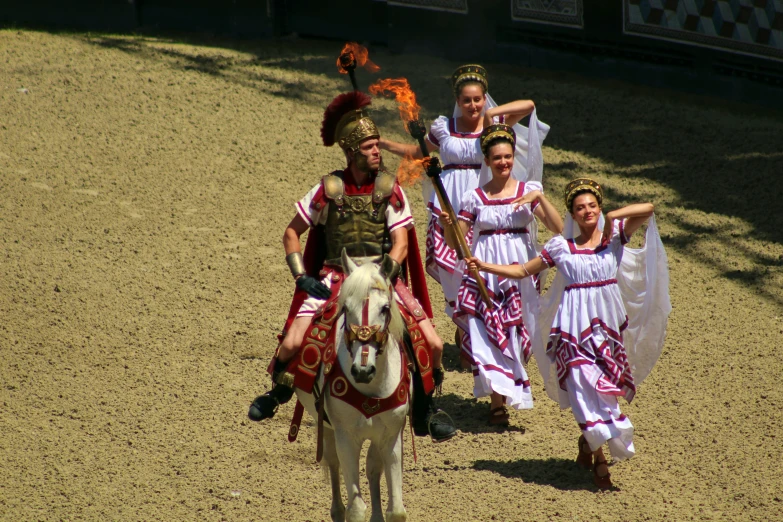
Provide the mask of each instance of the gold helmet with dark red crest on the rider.
[{"label": "gold helmet with dark red crest on the rider", "polygon": [[378,127],[365,110],[370,103],[370,97],[359,91],[347,92],[332,100],[321,125],[324,145],[331,147],[337,143],[343,150],[356,152],[362,141],[380,138]]}]

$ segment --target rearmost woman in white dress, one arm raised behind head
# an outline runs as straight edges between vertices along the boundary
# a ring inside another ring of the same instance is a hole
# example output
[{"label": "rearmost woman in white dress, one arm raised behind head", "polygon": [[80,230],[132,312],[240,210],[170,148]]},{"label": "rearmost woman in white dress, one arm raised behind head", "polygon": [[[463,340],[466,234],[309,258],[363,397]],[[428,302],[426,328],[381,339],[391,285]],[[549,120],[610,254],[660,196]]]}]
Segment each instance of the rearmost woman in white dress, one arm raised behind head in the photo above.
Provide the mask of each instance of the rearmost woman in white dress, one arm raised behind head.
[{"label": "rearmost woman in white dress, one arm raised behind head", "polygon": [[[459,212],[459,203],[463,196],[478,187],[479,170],[483,160],[479,137],[485,124],[493,121],[518,124],[522,118],[535,111],[535,104],[532,100],[517,100],[497,106],[487,93],[487,71],[480,65],[458,67],[451,76],[451,83],[456,97],[454,115],[452,118],[439,116],[430,126],[425,143],[429,152],[438,151],[440,154],[443,166],[441,180],[455,212]],[[518,132],[525,129],[520,125],[515,127]],[[543,123],[538,124],[537,120],[536,127],[535,142],[540,149],[540,141],[543,141],[549,127]],[[524,141],[524,145],[527,145],[527,141]],[[380,147],[399,156],[422,157],[421,149],[414,144],[381,138]],[[519,155],[526,155],[526,151]],[[540,154],[535,155],[539,156]],[[524,167],[519,170],[524,170]],[[445,311],[452,317],[461,280],[461,274],[455,275],[457,254],[446,243],[443,227],[438,222],[441,209],[437,196],[432,190],[427,190],[425,199],[431,213],[427,228],[425,268],[443,288]],[[468,237],[468,243],[470,240]]]}]

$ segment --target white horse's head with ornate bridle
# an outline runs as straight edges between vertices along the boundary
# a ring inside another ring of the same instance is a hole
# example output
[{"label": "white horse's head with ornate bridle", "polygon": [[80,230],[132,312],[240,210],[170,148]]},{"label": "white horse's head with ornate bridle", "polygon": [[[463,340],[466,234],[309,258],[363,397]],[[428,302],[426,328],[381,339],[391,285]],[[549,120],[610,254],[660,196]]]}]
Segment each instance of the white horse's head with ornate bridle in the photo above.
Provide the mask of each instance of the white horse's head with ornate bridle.
[{"label": "white horse's head with ornate bridle", "polygon": [[403,321],[394,300],[393,285],[387,274],[391,258],[380,265],[358,266],[343,250],[343,270],[347,277],[340,287],[340,306],[345,313],[345,345],[351,358],[351,376],[360,384],[372,381],[376,363],[391,339],[401,339]]}]

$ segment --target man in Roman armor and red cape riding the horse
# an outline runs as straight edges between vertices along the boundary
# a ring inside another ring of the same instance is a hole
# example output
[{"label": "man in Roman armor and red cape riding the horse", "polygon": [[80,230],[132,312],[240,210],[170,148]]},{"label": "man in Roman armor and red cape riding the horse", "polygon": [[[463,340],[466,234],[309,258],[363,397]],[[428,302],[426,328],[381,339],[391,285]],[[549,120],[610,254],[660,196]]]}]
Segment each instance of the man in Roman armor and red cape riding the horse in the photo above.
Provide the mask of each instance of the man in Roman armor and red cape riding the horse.
[{"label": "man in Roman armor and red cape riding the horse", "polygon": [[[272,417],[278,405],[291,399],[300,379],[315,378],[299,370],[297,354],[313,318],[339,292],[345,278],[343,249],[358,264],[378,263],[388,254],[397,302],[410,318],[408,324],[417,325],[426,339],[424,353],[417,348],[413,357],[414,432],[446,440],[456,430],[434,416],[432,404],[433,390],[443,380],[443,343],[429,320],[432,311],[410,205],[395,175],[382,168],[380,134],[368,116],[369,104],[369,96],[353,91],[335,98],[324,113],[323,143],[340,145],[348,166],[324,176],[296,204],[297,213],[285,230],[286,263],[297,291],[270,364],[273,387],[253,401],[248,416],[254,421]],[[308,229],[303,255],[299,237]]]}]

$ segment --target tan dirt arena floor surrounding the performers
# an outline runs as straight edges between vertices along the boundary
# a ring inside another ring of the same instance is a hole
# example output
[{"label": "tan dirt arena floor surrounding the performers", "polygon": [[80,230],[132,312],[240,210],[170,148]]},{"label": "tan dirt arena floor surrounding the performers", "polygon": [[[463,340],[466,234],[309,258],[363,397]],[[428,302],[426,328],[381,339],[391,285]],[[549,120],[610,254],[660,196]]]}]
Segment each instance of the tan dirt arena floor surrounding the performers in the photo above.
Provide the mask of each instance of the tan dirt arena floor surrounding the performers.
[{"label": "tan dirt arena floor surrounding the performers", "polygon": [[[349,86],[340,47],[0,31],[0,519],[329,518],[312,421],[290,444],[291,404],[264,424],[246,413],[292,294],[293,203],[343,165],[319,138]],[[458,63],[371,58],[365,88],[406,76],[426,120],[451,112]],[[497,431],[447,345],[439,404],[461,433],[418,439],[417,464],[406,433],[410,519],[783,520],[783,119],[486,65],[495,99],[532,98],[552,126],[561,210],[577,175],[609,187],[608,208],[655,203],[674,309],[624,407],[638,454],[611,468],[612,492],[574,463],[578,428],[535,362],[535,409]]]}]

